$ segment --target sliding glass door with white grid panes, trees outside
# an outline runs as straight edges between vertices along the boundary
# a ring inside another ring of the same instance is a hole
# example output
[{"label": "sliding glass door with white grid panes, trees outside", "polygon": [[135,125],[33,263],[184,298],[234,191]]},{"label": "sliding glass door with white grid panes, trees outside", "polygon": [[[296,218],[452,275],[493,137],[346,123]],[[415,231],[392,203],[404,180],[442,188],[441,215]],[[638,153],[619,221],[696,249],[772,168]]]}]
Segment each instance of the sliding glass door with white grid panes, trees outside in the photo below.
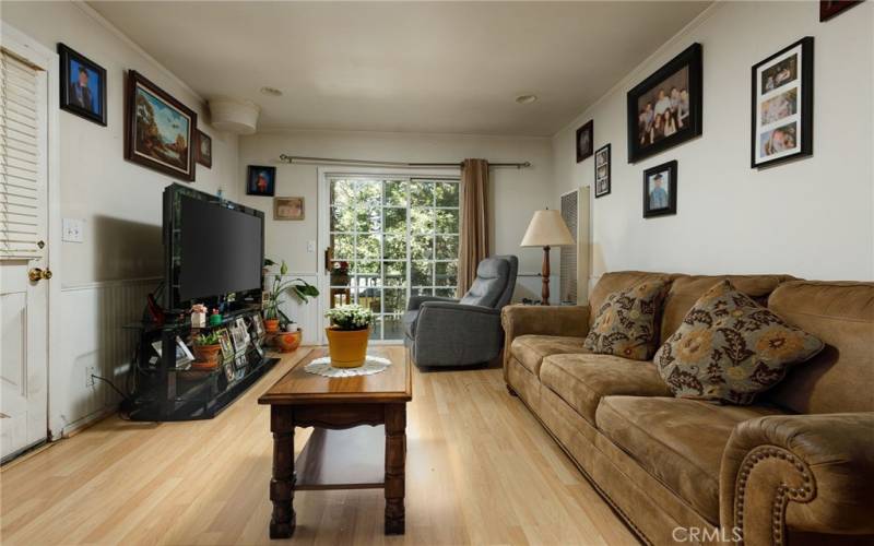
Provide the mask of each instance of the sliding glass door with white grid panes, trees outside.
[{"label": "sliding glass door with white grid panes, trees outside", "polygon": [[328,187],[327,307],[368,307],[373,340],[402,340],[411,295],[456,294],[458,179],[329,176]]}]

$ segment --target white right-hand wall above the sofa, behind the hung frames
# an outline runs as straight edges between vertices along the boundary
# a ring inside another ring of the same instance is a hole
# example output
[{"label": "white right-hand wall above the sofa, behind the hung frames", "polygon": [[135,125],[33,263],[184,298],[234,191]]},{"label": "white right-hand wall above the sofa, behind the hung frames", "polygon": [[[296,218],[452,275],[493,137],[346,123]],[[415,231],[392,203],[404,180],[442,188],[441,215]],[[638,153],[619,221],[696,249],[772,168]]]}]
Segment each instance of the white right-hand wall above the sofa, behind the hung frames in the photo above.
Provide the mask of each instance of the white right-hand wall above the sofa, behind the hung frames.
[{"label": "white right-hand wall above the sofa, behind the hung frames", "polygon": [[[612,193],[592,203],[592,276],[640,269],[874,278],[872,62],[874,4],[819,23],[818,2],[722,2],[659,49],[553,138],[556,191],[591,186],[576,163],[577,127],[612,144]],[[751,67],[814,36],[814,155],[749,168]],[[627,163],[626,93],[699,41],[704,134]],[[642,171],[678,162],[677,214],[642,217]]]}]

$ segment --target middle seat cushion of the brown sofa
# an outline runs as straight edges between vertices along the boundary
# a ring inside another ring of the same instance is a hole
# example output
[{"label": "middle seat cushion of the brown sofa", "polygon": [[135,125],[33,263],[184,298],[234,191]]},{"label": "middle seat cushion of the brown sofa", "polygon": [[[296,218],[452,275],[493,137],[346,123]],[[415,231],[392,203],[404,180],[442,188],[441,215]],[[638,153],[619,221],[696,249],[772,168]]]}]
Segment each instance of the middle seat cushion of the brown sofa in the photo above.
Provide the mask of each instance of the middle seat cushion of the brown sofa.
[{"label": "middle seat cushion of the brown sofa", "polygon": [[629,360],[612,355],[553,355],[540,370],[543,387],[556,393],[594,424],[594,412],[603,396],[633,394],[670,396],[671,391],[652,363]]}]

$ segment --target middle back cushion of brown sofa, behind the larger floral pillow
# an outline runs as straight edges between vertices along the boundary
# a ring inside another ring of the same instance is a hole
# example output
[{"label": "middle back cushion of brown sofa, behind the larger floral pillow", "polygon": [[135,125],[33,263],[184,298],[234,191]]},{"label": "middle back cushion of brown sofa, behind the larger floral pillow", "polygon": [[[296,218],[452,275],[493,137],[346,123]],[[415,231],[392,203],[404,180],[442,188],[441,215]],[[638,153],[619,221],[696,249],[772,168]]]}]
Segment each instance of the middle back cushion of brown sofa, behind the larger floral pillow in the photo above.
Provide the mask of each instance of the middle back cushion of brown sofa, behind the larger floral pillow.
[{"label": "middle back cushion of brown sofa, behind the larger floral pillow", "polygon": [[692,306],[698,301],[705,292],[709,290],[720,281],[729,281],[737,290],[743,292],[753,300],[766,306],[768,296],[780,283],[793,278],[789,275],[680,275],[671,283],[671,289],[664,298],[662,306],[661,343],[670,337]]}]

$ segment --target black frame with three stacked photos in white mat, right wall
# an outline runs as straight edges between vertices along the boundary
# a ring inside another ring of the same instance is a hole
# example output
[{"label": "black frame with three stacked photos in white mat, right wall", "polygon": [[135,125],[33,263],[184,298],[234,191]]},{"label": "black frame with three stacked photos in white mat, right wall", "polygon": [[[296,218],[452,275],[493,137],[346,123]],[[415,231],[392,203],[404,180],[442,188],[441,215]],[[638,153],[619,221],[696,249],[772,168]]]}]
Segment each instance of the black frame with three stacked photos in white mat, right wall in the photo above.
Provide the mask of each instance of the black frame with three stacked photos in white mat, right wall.
[{"label": "black frame with three stacked photos in white mat, right wall", "polygon": [[[753,66],[751,168],[813,155],[813,36],[805,36]],[[782,74],[788,75],[781,82]],[[789,142],[794,145],[784,147]]]}]

